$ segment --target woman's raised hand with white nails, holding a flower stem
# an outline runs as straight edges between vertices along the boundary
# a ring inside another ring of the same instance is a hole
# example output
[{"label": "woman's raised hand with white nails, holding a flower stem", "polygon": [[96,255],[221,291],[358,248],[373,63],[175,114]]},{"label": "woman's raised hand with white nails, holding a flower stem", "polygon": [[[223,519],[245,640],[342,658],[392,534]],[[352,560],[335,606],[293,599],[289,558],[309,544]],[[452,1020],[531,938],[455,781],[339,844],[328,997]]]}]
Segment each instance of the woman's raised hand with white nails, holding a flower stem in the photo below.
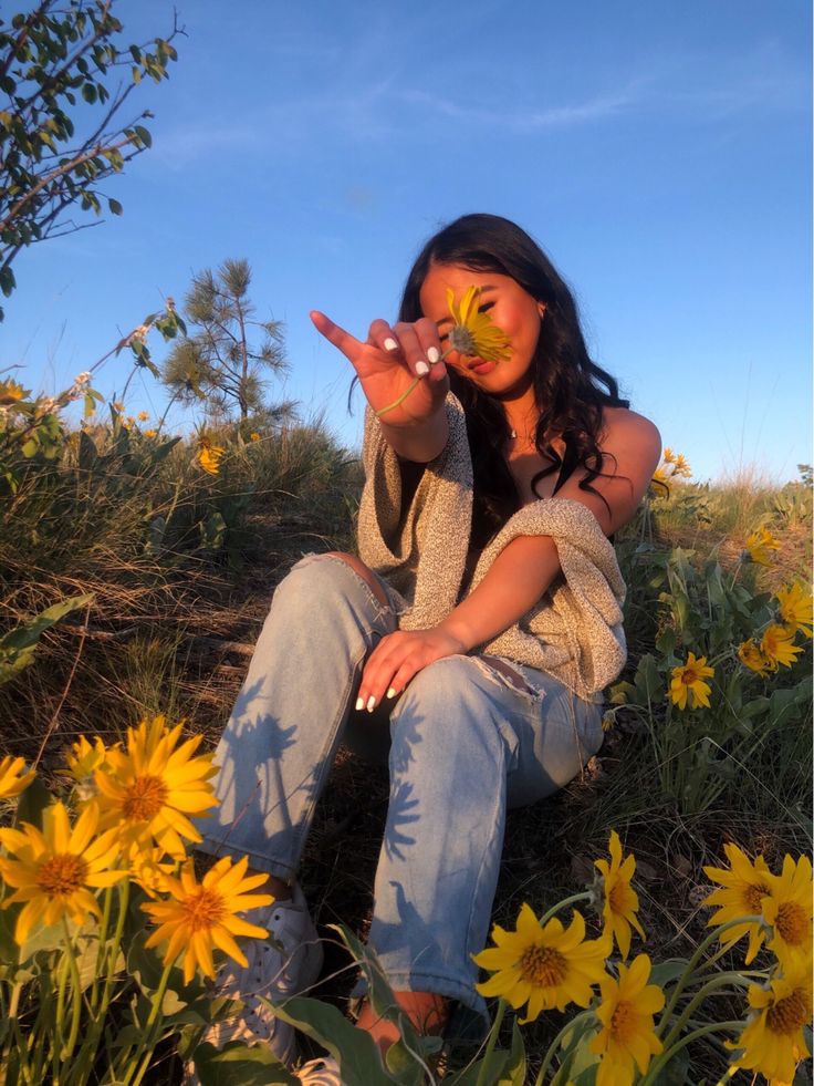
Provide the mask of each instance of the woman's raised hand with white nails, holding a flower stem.
[{"label": "woman's raised hand with white nails, holding a flower stem", "polygon": [[419,379],[397,407],[380,416],[382,422],[388,426],[415,426],[441,408],[449,392],[449,376],[432,321],[422,317],[413,324],[392,328],[387,321],[376,320],[363,343],[319,310],[312,310],[311,320],[351,362],[375,412],[398,401]]}]

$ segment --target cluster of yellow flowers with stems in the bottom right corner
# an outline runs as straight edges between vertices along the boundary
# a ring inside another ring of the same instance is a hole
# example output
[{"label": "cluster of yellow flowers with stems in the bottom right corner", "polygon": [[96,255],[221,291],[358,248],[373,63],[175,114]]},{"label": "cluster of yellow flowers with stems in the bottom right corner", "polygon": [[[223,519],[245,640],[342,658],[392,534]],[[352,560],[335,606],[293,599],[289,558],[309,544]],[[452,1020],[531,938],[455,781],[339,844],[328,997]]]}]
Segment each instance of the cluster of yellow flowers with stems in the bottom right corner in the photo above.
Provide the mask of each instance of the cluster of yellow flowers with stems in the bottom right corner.
[{"label": "cluster of yellow flowers with stems in the bottom right corner", "polygon": [[[738,1068],[759,1072],[772,1083],[791,1083],[796,1063],[808,1055],[804,1027],[812,1014],[812,868],[807,858],[796,862],[786,856],[781,875],[773,875],[762,857],[752,862],[735,845],[727,845],[730,868],[705,868],[720,883],[706,900],[717,907],[709,920],[716,930],[703,941],[699,953],[686,963],[683,972],[662,990],[650,983],[653,964],[647,954],[637,954],[628,964],[632,928],[644,939],[638,922],[638,897],[632,887],[636,861],[625,857],[618,835],[612,831],[609,859],[595,866],[598,881],[586,893],[575,894],[538,919],[528,903],[520,910],[514,931],[495,925],[494,947],[474,956],[478,965],[492,975],[478,984],[486,996],[499,996],[499,1024],[505,1006],[526,1007],[531,1022],[542,1011],[562,1011],[570,1004],[586,1009],[561,1030],[543,1062],[536,1083],[543,1083],[554,1052],[564,1055],[554,1082],[566,1082],[577,1047],[598,1061],[596,1086],[632,1086],[634,1082],[660,1080],[665,1066],[686,1044],[681,1036],[689,1014],[712,990],[730,982],[732,973],[710,974],[699,964],[700,951],[720,940],[723,949],[749,935],[745,963],[753,961],[765,941],[774,962],[762,985],[744,981],[749,1014],[745,1022],[721,1024],[735,1035],[727,1047],[733,1052],[730,1077]],[[596,902],[603,920],[598,939],[586,938],[585,921],[574,911],[567,928],[554,916],[580,898]],[[613,944],[622,961],[610,959]],[[716,955],[720,956],[720,954]],[[710,976],[716,979],[710,980]],[[754,976],[752,971],[750,976]],[[690,995],[692,985],[701,994]],[[598,996],[595,987],[599,989]],[[679,1011],[679,1000],[689,999]],[[660,1017],[657,1016],[660,1014]],[[714,1032],[701,1028],[699,1035]],[[493,1028],[492,1033],[497,1031]],[[584,1038],[584,1043],[583,1040]],[[656,1059],[654,1061],[654,1057]],[[585,1067],[584,1054],[580,1057]]]}]

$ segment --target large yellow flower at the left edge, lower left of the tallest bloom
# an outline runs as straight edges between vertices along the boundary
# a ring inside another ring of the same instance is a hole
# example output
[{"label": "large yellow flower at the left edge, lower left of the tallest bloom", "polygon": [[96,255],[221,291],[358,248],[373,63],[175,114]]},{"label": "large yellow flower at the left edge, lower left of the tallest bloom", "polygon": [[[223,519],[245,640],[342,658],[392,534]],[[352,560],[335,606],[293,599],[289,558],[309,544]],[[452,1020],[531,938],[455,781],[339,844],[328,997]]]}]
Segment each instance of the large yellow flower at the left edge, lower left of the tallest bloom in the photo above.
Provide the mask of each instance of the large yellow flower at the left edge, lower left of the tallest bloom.
[{"label": "large yellow flower at the left edge, lower left of the tallest bloom", "polygon": [[73,828],[61,803],[44,810],[42,823],[42,830],[30,823],[23,823],[22,830],[0,829],[0,844],[17,857],[0,857],[0,875],[15,887],[3,908],[25,902],[14,929],[20,945],[40,920],[50,925],[70,917],[82,924],[91,913],[101,917],[93,890],[113,886],[127,875],[111,870],[119,851],[116,831],[94,836],[98,826],[95,806],[86,807]]}]

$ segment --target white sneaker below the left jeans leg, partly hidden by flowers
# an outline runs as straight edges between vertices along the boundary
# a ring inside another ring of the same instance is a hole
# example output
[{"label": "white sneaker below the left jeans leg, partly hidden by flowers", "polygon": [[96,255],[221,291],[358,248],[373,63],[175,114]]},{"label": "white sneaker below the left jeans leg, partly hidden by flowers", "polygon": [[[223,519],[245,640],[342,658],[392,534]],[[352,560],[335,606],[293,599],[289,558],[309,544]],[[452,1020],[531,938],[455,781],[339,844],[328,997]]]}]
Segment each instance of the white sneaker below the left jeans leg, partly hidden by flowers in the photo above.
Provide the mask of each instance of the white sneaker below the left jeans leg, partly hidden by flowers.
[{"label": "white sneaker below the left jeans leg, partly hidden by flowers", "polygon": [[[240,1000],[243,1006],[231,1017],[213,1022],[201,1041],[216,1048],[222,1048],[229,1041],[262,1043],[288,1066],[296,1057],[294,1027],[263,1006],[258,996],[282,1003],[292,995],[306,992],[322,969],[322,943],[296,885],[291,901],[275,901],[262,909],[252,909],[246,913],[246,919],[268,929],[270,940],[283,949],[279,950],[264,939],[251,939],[242,947],[247,966],[231,959],[225,964],[215,982],[213,994]],[[198,1083],[194,1064],[187,1065],[184,1082],[185,1086]]]}]

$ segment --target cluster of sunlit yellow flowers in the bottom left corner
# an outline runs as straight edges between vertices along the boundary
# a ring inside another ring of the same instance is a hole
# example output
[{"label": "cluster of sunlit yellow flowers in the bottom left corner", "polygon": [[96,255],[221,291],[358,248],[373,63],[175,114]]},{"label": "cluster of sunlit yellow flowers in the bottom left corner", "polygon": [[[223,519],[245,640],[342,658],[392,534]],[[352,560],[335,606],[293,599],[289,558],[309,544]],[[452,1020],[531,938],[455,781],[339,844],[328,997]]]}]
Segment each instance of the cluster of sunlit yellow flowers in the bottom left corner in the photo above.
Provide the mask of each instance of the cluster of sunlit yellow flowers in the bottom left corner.
[{"label": "cluster of sunlit yellow flowers in the bottom left corner", "polygon": [[[198,969],[213,976],[216,949],[247,964],[234,937],[260,938],[265,930],[239,913],[273,899],[251,892],[267,876],[247,876],[246,858],[223,858],[196,881],[186,846],[201,838],[190,816],[217,805],[209,783],[217,768],[210,755],[196,753],[201,737],[181,741],[181,724],[170,727],[156,716],[112,746],[82,736],[63,770],[74,789],[73,823],[58,801],[43,811],[41,827],[0,829],[0,877],[13,889],[2,908],[23,903],[18,943],[40,923],[98,921],[98,891],[129,881],[152,899],[142,906],[157,925],[147,945],[166,943],[165,963],[182,962],[187,981]],[[22,758],[3,758],[0,798],[19,796],[33,777]]]}]

